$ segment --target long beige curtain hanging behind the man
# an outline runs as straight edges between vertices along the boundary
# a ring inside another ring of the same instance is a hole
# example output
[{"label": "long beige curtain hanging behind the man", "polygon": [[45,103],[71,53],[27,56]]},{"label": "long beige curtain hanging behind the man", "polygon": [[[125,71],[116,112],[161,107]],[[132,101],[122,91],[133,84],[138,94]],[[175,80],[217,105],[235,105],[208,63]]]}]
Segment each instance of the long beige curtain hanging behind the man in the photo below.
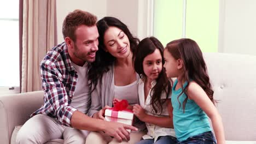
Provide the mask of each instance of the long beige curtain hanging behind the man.
[{"label": "long beige curtain hanging behind the man", "polygon": [[42,89],[39,64],[56,45],[55,0],[24,0],[21,93]]}]

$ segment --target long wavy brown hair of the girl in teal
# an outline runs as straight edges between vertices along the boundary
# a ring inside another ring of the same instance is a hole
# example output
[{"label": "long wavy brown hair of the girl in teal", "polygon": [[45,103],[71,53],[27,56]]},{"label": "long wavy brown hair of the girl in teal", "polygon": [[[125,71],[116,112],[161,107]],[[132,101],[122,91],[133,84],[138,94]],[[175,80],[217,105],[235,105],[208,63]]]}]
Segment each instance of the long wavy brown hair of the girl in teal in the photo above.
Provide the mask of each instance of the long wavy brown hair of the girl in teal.
[{"label": "long wavy brown hair of the girl in teal", "polygon": [[[184,88],[182,86],[182,93],[188,91],[189,83],[193,80],[202,87],[203,91],[206,92],[214,104],[213,90],[207,73],[205,60],[203,59],[202,52],[196,42],[191,39],[173,40],[166,45],[166,49],[175,59],[180,58],[183,61],[184,73],[182,77],[184,81],[188,82],[188,85]],[[181,94],[179,96],[181,96]],[[183,110],[185,109],[187,101],[188,96],[183,101]],[[179,104],[181,106],[180,102]]]}]

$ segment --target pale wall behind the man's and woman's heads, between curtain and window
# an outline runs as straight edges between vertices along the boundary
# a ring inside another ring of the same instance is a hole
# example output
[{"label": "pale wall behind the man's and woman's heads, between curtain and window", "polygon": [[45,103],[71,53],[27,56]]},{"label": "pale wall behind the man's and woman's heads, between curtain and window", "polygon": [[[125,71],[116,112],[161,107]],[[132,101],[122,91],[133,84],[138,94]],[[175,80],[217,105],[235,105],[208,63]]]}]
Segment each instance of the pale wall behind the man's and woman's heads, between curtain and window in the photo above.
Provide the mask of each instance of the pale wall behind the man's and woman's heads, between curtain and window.
[{"label": "pale wall behind the man's and woman's heads, between curtain and window", "polygon": [[98,17],[117,17],[125,23],[131,33],[142,39],[148,34],[148,1],[152,0],[56,0],[57,13],[57,43],[62,43],[62,22],[66,15],[75,10],[82,9]]}]

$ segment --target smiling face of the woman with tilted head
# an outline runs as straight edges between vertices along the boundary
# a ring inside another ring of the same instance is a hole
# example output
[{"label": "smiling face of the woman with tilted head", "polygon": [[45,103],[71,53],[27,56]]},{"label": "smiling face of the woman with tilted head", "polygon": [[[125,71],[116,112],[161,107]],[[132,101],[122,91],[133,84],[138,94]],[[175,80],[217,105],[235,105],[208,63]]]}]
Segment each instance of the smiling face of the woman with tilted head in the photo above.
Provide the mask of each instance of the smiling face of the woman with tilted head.
[{"label": "smiling face of the woman with tilted head", "polygon": [[117,27],[109,27],[104,34],[105,51],[116,58],[126,58],[130,54],[130,41]]}]

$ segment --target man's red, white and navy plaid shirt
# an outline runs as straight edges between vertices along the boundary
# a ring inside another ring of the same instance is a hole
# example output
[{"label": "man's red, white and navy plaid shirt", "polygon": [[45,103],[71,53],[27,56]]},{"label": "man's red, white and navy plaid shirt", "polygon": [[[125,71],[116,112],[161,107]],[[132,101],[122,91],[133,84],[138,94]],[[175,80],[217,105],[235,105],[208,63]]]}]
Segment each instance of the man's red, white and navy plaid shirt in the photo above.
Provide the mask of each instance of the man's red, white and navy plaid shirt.
[{"label": "man's red, white and navy plaid shirt", "polygon": [[39,113],[56,118],[59,123],[71,126],[71,116],[76,109],[69,106],[77,83],[77,72],[71,64],[66,43],[51,49],[40,63],[44,90],[44,105]]}]

